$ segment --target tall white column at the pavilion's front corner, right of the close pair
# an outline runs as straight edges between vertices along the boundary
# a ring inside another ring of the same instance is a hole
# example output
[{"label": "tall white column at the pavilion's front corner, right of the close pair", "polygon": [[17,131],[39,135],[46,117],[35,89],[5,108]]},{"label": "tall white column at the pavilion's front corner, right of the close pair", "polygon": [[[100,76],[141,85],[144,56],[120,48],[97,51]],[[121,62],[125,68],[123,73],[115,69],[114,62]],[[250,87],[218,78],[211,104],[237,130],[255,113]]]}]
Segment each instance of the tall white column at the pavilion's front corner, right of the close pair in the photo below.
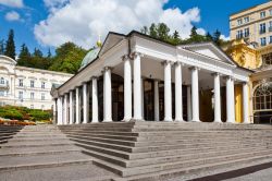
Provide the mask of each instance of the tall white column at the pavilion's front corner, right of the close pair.
[{"label": "tall white column at the pavilion's front corner, right of the close pair", "polygon": [[133,62],[133,100],[134,100],[134,120],[143,120],[141,114],[141,70],[140,70],[140,55],[134,53]]}]

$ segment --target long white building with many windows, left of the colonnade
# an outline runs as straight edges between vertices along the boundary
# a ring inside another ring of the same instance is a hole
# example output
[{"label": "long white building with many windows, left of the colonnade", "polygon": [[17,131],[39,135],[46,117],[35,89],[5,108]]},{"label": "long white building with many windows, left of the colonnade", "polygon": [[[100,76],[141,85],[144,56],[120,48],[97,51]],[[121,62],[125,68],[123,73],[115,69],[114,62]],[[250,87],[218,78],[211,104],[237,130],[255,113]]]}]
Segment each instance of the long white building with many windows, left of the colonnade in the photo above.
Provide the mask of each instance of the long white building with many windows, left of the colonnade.
[{"label": "long white building with many windows, left of the colonnade", "polygon": [[52,85],[63,84],[71,76],[72,74],[18,67],[15,60],[0,56],[0,106],[52,109]]}]

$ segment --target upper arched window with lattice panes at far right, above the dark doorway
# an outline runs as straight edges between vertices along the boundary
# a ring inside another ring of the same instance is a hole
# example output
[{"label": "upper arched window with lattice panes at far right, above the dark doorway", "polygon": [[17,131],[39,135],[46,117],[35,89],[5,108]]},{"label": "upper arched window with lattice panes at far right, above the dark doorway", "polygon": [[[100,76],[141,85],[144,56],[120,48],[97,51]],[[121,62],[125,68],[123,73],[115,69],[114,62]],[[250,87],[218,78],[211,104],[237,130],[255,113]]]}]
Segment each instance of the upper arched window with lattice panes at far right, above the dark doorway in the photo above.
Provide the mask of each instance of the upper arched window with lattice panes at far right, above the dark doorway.
[{"label": "upper arched window with lattice panes at far right, above the dark doorway", "polygon": [[272,110],[272,82],[259,85],[254,93],[255,111]]}]

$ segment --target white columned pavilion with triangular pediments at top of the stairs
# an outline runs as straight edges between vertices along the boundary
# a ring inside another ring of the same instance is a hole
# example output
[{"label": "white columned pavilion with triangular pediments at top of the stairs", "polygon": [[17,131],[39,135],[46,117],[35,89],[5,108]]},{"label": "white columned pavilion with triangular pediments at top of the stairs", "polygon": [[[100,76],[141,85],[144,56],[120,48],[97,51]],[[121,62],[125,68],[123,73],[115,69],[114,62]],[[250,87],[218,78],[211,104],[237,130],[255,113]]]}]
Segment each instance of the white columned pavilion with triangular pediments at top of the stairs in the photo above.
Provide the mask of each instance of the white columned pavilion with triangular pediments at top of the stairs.
[{"label": "white columned pavilion with triangular pediments at top of the stairs", "polygon": [[[109,33],[96,52],[89,52],[79,72],[52,90],[58,124],[131,120],[250,123],[248,82],[252,72],[212,43],[173,46],[133,31]],[[236,86],[243,90],[238,111]]]}]

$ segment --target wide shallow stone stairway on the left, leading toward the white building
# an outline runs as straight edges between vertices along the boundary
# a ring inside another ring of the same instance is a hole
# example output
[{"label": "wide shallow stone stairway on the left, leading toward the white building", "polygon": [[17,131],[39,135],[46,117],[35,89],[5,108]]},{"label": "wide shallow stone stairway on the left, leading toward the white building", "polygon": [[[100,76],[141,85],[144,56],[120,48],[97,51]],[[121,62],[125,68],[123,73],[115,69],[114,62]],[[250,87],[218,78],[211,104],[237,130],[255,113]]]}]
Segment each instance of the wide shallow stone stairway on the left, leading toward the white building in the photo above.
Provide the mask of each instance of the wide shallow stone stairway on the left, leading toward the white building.
[{"label": "wide shallow stone stairway on the left, leading toward the white building", "polygon": [[75,146],[55,125],[24,126],[8,143],[0,144],[0,180],[7,181],[89,178],[110,181],[115,177],[92,165],[92,157],[83,154],[82,148]]}]

